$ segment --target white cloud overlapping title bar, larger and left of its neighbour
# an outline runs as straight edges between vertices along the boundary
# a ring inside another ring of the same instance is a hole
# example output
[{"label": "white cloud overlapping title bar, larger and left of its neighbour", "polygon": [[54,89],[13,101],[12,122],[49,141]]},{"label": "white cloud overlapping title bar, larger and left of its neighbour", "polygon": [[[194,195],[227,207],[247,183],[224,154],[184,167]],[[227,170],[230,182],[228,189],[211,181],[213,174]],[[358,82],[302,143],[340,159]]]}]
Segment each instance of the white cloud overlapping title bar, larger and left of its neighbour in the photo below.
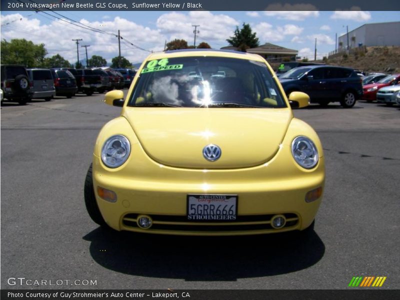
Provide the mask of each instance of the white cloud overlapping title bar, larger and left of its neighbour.
[{"label": "white cloud overlapping title bar, larger and left of its neighbour", "polygon": [[266,16],[275,16],[278,19],[301,21],[307,17],[317,17],[319,12],[312,4],[269,4],[264,11]]}]

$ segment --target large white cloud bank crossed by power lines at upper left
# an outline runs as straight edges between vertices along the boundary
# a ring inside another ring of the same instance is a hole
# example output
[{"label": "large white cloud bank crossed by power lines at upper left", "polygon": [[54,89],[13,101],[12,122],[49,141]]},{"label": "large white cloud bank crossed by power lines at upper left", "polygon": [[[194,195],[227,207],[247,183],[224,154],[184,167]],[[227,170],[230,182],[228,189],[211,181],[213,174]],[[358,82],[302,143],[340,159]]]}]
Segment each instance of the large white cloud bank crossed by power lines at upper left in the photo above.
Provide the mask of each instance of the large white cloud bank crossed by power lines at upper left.
[{"label": "large white cloud bank crossed by power lines at upper left", "polygon": [[[121,17],[115,17],[113,20],[94,22],[89,22],[85,19],[79,20],[90,27],[115,33],[115,35],[84,30],[61,20],[53,20],[48,24],[41,24],[39,19],[28,19],[19,13],[1,15],[2,23],[5,20],[18,18],[21,18],[21,20],[13,22],[10,26],[1,26],[1,38],[5,38],[6,40],[25,38],[36,44],[44,43],[48,51],[48,56],[59,53],[71,63],[76,61],[76,44],[71,40],[72,38],[82,38],[79,41],[79,45],[90,45],[87,48],[89,57],[92,55],[101,55],[107,62],[111,62],[111,58],[118,55],[118,39],[115,36],[118,29],[120,29],[122,37],[142,48],[157,47],[158,50],[162,50],[164,47],[165,36],[158,30],[150,29]],[[84,48],[79,46],[78,50],[79,58],[85,57]],[[121,55],[131,62],[137,62],[144,59],[148,55],[148,52],[126,44],[124,39],[122,39]]]}]

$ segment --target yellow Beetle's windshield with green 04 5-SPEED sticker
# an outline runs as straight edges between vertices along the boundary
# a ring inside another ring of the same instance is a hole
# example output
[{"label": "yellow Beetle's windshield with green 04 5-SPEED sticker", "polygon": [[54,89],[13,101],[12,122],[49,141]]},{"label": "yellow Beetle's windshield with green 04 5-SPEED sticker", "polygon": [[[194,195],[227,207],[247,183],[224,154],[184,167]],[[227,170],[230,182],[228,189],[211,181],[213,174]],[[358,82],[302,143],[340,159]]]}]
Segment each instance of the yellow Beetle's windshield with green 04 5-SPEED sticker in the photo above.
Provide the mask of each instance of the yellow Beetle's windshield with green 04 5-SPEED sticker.
[{"label": "yellow Beetle's windshield with green 04 5-SPEED sticker", "polygon": [[286,107],[265,63],[191,56],[150,60],[129,106]]}]

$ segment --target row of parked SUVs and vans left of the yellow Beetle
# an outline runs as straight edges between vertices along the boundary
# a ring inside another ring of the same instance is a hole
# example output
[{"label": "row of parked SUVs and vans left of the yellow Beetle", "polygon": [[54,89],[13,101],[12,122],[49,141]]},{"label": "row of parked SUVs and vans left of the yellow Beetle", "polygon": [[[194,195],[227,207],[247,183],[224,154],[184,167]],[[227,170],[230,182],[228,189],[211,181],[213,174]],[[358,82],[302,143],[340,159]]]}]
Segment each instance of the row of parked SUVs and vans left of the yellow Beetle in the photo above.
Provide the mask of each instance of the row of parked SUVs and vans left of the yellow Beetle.
[{"label": "row of parked SUVs and vans left of the yellow Beetle", "polygon": [[32,98],[49,101],[54,96],[70,98],[77,92],[91,95],[94,91],[129,87],[135,71],[112,68],[32,68],[1,65],[2,98],[25,104]]}]

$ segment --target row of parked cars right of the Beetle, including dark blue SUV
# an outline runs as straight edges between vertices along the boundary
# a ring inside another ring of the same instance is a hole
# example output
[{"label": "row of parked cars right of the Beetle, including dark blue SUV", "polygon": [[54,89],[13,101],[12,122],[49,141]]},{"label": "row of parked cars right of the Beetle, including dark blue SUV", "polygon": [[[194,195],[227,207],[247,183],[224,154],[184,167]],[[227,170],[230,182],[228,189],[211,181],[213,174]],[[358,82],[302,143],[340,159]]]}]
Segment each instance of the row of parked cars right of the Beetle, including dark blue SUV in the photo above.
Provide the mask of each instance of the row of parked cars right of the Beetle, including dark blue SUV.
[{"label": "row of parked cars right of the Beetle, including dark blue SUV", "polygon": [[309,95],[311,102],[320,105],[339,101],[349,108],[357,99],[392,105],[400,93],[400,74],[365,76],[362,71],[352,68],[312,62],[285,62],[276,73],[287,95],[302,91]]}]

